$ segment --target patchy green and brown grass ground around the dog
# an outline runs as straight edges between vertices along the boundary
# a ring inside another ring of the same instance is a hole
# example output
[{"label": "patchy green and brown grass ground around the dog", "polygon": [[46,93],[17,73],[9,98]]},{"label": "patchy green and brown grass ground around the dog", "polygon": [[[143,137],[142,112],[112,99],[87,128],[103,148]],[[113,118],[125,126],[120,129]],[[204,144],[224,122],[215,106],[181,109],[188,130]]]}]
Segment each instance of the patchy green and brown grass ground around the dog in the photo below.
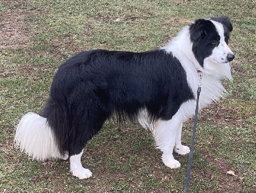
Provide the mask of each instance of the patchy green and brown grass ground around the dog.
[{"label": "patchy green and brown grass ground around the dog", "polygon": [[[11,31],[0,30],[10,34],[0,42],[0,192],[183,192],[188,156],[175,155],[180,169],[166,168],[152,136],[139,125],[120,126],[112,120],[104,124],[85,148],[83,165],[93,172],[88,180],[70,175],[68,162],[29,159],[13,147],[13,134],[24,113],[44,106],[52,76],[70,55],[93,48],[151,50],[189,20],[218,15],[228,15],[234,25],[234,81],[224,82],[225,100],[200,113],[189,192],[255,192],[254,4],[0,0],[0,20],[8,15],[15,21],[12,17],[19,15],[22,21],[0,23],[11,26]],[[12,38],[15,31],[22,34],[19,44]],[[192,120],[184,125],[186,145],[191,125]],[[229,170],[236,176],[228,175]]]}]

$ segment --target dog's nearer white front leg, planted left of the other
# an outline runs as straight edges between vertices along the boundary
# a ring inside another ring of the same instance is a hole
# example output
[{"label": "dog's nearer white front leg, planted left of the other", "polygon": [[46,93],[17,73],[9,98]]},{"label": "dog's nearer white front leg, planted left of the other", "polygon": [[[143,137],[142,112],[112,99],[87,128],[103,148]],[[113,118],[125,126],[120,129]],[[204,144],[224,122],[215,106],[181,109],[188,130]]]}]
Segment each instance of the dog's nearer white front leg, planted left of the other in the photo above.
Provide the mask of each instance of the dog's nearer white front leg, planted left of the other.
[{"label": "dog's nearer white front leg, planted left of the other", "polygon": [[159,120],[154,132],[157,148],[163,152],[163,163],[172,169],[180,167],[180,162],[173,157],[173,148],[180,125],[180,118],[173,116],[171,120]]}]

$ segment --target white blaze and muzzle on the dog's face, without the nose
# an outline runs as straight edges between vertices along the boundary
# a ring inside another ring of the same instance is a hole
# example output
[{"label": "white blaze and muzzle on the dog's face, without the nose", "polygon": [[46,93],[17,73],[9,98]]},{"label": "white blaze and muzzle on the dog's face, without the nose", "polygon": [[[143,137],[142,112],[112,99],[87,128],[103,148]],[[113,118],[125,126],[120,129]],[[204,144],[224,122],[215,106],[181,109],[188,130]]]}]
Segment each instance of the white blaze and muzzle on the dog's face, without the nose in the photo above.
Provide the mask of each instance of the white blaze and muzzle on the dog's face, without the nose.
[{"label": "white blaze and muzzle on the dog's face, without the nose", "polygon": [[218,34],[220,35],[220,43],[212,50],[212,54],[205,58],[205,62],[214,62],[218,64],[228,63],[227,55],[233,54],[233,52],[228,47],[227,43],[225,42],[224,36],[224,28],[223,25],[219,22],[212,21],[211,22],[215,25]]}]

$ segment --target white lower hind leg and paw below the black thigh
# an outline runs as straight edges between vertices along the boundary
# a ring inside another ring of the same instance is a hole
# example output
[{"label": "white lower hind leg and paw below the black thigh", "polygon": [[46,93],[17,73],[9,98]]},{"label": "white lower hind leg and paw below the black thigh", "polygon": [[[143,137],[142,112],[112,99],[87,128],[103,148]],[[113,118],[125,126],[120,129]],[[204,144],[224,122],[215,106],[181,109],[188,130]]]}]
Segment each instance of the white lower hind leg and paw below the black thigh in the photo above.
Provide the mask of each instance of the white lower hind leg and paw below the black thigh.
[{"label": "white lower hind leg and paw below the black thigh", "polygon": [[90,178],[92,176],[92,172],[89,169],[83,168],[81,164],[81,157],[83,151],[80,154],[70,156],[70,171],[73,176],[76,176],[79,179]]}]

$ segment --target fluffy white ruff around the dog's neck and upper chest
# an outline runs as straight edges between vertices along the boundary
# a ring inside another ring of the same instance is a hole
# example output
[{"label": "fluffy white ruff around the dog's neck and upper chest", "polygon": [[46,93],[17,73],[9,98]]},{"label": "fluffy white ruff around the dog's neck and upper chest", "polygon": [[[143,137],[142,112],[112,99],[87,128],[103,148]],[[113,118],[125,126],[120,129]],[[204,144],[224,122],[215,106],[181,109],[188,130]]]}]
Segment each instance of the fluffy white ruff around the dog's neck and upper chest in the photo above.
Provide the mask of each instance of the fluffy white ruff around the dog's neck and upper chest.
[{"label": "fluffy white ruff around the dog's neck and upper chest", "polygon": [[[207,69],[205,70],[205,68],[202,68],[202,66],[200,66],[199,62],[196,60],[192,51],[189,26],[184,27],[178,36],[173,38],[172,41],[170,41],[166,46],[163,46],[161,49],[166,50],[167,53],[172,53],[173,56],[179,59],[180,64],[186,71],[189,86],[191,87],[191,90],[195,96],[199,82],[198,70],[202,73],[203,89],[201,95],[204,97],[200,101],[200,108],[203,108],[209,104],[209,101],[217,100],[226,92],[220,81],[223,76],[218,75],[218,71],[217,73],[212,73],[211,71],[207,71]],[[227,66],[222,66],[221,68],[227,68]],[[219,70],[222,74],[222,69]]]}]

